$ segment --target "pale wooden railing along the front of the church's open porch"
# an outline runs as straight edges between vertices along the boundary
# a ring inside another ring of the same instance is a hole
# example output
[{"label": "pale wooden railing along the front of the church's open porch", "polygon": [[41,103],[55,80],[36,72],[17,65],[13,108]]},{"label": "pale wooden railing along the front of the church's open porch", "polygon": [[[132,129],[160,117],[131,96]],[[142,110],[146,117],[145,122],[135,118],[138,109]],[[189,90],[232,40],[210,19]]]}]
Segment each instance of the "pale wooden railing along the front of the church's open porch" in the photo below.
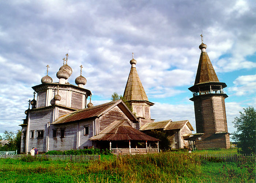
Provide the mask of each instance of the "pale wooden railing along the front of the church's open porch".
[{"label": "pale wooden railing along the front of the church's open porch", "polygon": [[[111,148],[112,154],[130,154],[129,148]],[[158,153],[157,148],[131,148],[131,154]]]}]

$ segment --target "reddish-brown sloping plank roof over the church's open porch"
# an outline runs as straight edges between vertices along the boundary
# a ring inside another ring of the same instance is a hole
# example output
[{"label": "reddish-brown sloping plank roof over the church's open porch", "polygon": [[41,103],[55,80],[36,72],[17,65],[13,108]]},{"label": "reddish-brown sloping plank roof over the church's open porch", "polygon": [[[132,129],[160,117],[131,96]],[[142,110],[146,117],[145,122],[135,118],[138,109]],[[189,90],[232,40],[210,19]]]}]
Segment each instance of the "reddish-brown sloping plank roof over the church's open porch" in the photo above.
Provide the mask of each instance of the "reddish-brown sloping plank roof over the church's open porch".
[{"label": "reddish-brown sloping plank roof over the church's open porch", "polygon": [[126,120],[116,120],[99,135],[91,137],[89,140],[136,140],[136,141],[160,141],[154,137],[144,134],[143,132],[133,128]]}]

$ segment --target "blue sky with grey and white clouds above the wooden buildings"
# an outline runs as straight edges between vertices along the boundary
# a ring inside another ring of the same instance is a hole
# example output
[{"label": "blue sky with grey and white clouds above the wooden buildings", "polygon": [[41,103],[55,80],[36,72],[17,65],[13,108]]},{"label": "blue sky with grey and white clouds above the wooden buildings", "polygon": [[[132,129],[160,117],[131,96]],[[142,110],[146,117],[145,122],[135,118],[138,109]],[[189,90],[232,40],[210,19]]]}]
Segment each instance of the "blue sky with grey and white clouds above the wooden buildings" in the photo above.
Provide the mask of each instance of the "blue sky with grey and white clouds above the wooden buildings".
[{"label": "blue sky with grey and white clouds above the wooden buildings", "polygon": [[228,130],[239,111],[256,106],[255,1],[10,0],[0,3],[0,134],[21,129],[34,85],[49,64],[56,72],[68,52],[69,83],[86,77],[94,105],[123,95],[136,68],[156,121],[188,119],[195,128],[192,92],[200,34],[225,93]]}]

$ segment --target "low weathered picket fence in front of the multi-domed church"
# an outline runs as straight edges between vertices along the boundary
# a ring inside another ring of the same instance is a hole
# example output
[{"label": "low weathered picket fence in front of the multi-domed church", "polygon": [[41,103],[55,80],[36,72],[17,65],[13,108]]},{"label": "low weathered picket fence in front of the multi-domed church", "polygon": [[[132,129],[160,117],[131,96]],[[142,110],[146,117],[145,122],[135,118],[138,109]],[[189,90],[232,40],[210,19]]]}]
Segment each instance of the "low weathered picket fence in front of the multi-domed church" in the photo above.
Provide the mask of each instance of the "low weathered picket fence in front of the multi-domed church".
[{"label": "low weathered picket fence in front of the multi-domed church", "polygon": [[[4,154],[0,155],[0,158],[12,158],[21,159],[31,155],[26,154]],[[35,155],[34,158],[41,160],[52,160],[52,161],[70,161],[70,162],[89,162],[93,160],[100,160],[101,155]]]}]

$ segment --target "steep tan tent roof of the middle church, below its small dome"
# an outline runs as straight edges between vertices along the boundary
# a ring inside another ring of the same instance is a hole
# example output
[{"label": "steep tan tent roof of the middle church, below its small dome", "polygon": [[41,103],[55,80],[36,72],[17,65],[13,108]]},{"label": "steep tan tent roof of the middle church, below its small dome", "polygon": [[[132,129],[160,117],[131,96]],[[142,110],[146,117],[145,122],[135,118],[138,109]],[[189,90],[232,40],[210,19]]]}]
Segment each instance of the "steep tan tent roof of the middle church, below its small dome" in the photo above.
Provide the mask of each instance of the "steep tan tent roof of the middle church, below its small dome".
[{"label": "steep tan tent roof of the middle church, below its small dome", "polygon": [[142,86],[136,67],[132,67],[124,89],[124,99],[148,101],[146,92]]}]

